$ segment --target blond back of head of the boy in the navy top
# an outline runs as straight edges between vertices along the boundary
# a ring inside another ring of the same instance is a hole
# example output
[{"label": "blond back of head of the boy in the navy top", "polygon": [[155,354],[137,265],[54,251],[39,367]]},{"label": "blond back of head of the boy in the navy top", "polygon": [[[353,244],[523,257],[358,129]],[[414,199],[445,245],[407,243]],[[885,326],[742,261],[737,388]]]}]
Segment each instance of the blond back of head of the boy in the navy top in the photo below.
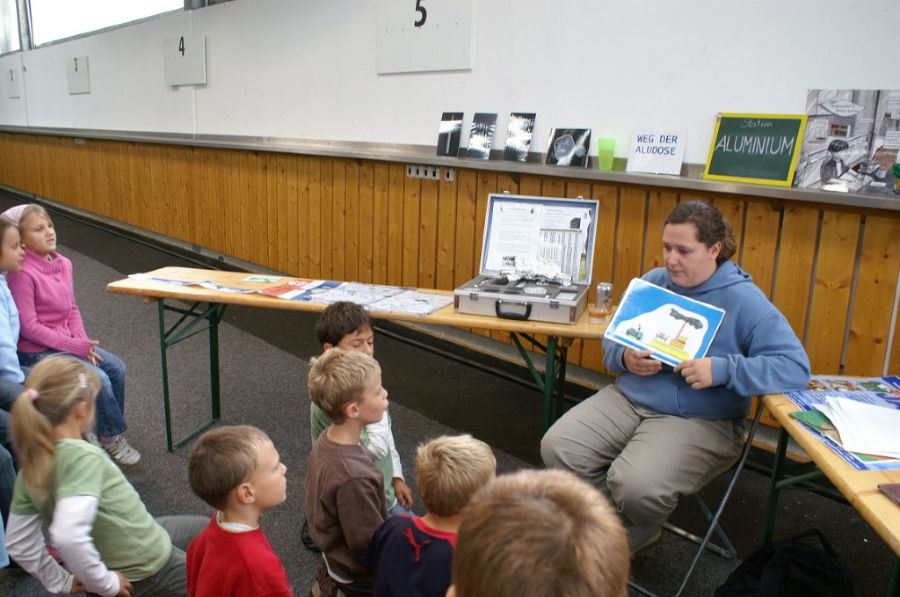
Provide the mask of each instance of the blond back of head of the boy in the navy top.
[{"label": "blond back of head of the boy in the navy top", "polygon": [[471,435],[444,435],[416,452],[416,484],[429,514],[456,516],[496,470],[491,447]]}]

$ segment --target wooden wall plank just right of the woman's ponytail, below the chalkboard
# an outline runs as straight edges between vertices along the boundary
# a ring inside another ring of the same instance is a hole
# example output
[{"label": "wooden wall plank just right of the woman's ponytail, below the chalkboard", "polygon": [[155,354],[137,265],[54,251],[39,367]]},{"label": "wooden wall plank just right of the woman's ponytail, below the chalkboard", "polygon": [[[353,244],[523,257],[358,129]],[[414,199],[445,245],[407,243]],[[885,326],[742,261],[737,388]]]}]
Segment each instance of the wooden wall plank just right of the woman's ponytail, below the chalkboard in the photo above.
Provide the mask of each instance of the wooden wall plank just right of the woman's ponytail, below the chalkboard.
[{"label": "wooden wall plank just right of the woman's ponytail, below the chalkboard", "polygon": [[771,297],[782,212],[769,201],[747,201],[746,214],[743,249],[735,258],[760,290]]}]

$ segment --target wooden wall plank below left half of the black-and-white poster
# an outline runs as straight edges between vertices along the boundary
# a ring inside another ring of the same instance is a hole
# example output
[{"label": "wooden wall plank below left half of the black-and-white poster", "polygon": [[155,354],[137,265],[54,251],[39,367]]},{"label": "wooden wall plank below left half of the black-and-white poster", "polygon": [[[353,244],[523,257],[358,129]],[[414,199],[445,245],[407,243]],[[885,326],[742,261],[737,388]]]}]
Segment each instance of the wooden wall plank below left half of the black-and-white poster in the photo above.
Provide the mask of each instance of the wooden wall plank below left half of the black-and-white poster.
[{"label": "wooden wall plank below left half of the black-and-white poster", "polygon": [[814,373],[841,373],[859,223],[858,214],[823,213],[806,337],[806,351]]}]

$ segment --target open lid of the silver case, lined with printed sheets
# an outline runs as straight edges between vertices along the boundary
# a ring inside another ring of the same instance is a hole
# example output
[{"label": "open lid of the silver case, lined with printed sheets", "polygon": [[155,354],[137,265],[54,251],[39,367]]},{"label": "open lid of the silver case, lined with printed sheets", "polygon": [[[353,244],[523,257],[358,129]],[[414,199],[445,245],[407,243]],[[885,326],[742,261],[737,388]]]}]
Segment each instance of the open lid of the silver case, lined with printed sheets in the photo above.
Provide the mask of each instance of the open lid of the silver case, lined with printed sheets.
[{"label": "open lid of the silver case, lined with printed sheets", "polygon": [[590,284],[598,207],[595,199],[488,195],[481,275],[514,269],[521,256],[552,261],[573,284]]}]

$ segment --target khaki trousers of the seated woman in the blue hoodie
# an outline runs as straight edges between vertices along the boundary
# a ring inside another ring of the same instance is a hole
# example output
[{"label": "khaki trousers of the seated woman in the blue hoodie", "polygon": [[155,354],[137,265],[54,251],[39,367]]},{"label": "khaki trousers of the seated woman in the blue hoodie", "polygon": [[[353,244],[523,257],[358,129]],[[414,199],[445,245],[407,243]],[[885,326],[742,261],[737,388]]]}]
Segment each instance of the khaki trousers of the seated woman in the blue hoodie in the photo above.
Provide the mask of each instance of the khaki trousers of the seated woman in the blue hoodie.
[{"label": "khaki trousers of the seated woman in the blue hoodie", "polygon": [[663,415],[610,384],[561,417],[541,457],[595,484],[622,515],[632,553],[657,536],[682,495],[693,495],[737,460],[742,422]]}]

